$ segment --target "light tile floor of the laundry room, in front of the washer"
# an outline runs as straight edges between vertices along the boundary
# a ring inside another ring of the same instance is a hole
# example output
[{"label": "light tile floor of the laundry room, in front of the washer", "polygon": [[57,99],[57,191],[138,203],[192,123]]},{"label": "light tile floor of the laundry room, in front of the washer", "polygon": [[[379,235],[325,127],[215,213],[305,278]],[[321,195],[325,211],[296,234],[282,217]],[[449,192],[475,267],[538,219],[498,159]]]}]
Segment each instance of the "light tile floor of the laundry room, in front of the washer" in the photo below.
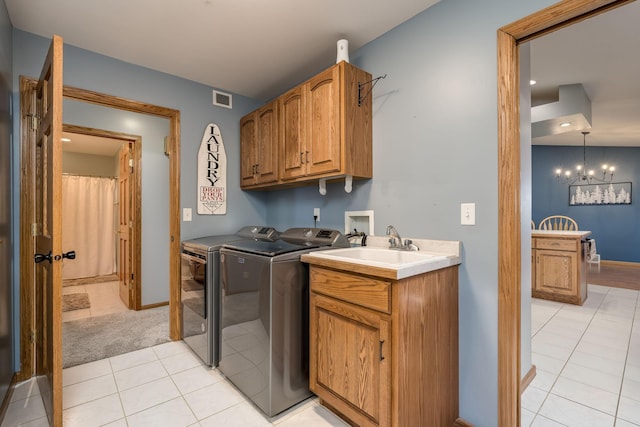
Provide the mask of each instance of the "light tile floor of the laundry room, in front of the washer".
[{"label": "light tile floor of the laundry room, in front of the washer", "polygon": [[[63,371],[63,424],[81,426],[346,426],[308,399],[267,418],[181,341]],[[38,386],[17,386],[2,427],[47,426]]]}]

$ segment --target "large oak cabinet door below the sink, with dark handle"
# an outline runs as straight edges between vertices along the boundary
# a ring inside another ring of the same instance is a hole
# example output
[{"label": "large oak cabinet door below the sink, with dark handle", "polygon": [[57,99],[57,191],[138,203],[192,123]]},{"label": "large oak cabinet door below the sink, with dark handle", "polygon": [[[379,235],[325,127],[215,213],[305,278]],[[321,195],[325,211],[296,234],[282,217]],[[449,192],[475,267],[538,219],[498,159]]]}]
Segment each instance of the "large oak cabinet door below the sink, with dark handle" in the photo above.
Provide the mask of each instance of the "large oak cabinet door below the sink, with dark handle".
[{"label": "large oak cabinet door below the sink, with dark handle", "polygon": [[390,321],[311,294],[309,386],[358,425],[390,423]]}]

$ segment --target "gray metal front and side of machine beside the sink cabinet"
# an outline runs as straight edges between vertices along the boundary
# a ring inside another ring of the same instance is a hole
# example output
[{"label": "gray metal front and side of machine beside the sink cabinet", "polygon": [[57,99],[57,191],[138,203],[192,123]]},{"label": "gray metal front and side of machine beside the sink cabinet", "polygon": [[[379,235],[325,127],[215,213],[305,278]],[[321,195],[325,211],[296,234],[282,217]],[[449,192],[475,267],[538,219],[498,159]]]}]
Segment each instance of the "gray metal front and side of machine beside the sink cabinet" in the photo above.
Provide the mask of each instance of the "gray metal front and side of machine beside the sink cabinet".
[{"label": "gray metal front and side of machine beside the sink cabinet", "polygon": [[220,370],[272,417],[311,395],[308,269],[225,248],[220,259]]}]

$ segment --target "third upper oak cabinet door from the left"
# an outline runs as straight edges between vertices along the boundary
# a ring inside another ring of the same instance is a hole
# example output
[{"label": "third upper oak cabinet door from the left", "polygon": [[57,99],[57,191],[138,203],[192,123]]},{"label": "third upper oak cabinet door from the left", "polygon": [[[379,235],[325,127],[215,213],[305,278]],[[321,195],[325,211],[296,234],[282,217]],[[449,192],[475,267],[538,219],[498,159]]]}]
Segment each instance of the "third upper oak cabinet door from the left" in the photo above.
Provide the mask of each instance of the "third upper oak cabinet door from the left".
[{"label": "third upper oak cabinet door from the left", "polygon": [[306,173],[309,151],[304,144],[304,96],[298,86],[279,98],[280,178],[298,178]]}]

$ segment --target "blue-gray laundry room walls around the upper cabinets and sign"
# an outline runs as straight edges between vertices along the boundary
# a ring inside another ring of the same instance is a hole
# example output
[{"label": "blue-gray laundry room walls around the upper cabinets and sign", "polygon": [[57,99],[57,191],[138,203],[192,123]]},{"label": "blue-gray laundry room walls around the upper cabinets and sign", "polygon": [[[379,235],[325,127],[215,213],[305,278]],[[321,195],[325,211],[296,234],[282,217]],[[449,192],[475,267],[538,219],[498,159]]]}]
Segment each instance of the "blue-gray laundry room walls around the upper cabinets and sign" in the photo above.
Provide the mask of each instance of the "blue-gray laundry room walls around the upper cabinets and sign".
[{"label": "blue-gray laundry room walls around the upper cabinets and sign", "polygon": [[[310,226],[313,208],[320,207],[324,227],[342,229],[345,210],[373,209],[375,234],[394,224],[407,237],[462,241],[460,415],[490,427],[498,417],[496,30],[552,3],[444,0],[352,52],[355,65],[387,78],[373,91],[374,178],[354,183],[351,194],[341,184],[329,184],[324,197],[316,187],[240,191],[238,119],[258,101],[236,97],[234,110],[216,109],[211,88],[69,46],[65,84],[181,110],[183,207],[195,208],[190,189],[204,126],[220,125],[229,214],[194,215],[193,223],[183,223],[185,238],[247,223]],[[14,37],[15,75],[37,76],[48,41],[20,31]],[[462,202],[476,203],[476,226],[460,225]]]}]

